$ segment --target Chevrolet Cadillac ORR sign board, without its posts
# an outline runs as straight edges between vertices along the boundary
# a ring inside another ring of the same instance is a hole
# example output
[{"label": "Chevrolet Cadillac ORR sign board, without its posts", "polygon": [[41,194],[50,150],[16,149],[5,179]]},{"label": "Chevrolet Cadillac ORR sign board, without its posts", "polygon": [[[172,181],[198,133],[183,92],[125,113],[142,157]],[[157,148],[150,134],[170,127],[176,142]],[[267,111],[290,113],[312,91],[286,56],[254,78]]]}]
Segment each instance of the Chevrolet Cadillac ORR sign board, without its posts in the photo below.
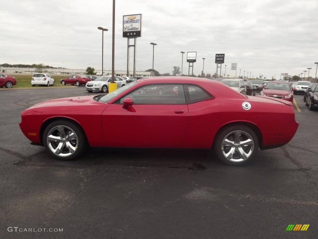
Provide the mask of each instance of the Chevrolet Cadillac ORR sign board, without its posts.
[{"label": "Chevrolet Cadillac ORR sign board, without its posts", "polygon": [[141,14],[123,16],[122,37],[141,37]]}]

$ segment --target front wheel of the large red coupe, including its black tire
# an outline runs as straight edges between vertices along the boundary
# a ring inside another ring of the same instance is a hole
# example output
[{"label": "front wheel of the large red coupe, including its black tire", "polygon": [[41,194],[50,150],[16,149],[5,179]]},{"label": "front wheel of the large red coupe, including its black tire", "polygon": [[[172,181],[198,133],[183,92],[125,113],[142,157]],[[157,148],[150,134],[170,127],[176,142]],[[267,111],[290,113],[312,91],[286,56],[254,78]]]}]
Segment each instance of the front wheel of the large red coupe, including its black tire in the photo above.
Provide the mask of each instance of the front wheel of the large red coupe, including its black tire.
[{"label": "front wheel of the large red coupe, including its black tire", "polygon": [[[63,139],[61,138],[61,141],[49,141],[48,136],[53,135],[55,137],[60,137],[63,135],[60,134],[59,129],[63,129],[65,137]],[[72,136],[76,139],[72,139],[70,141],[67,141],[67,137],[70,136],[68,133],[75,133]],[[87,140],[85,133],[83,130],[75,123],[68,121],[68,120],[55,120],[52,123],[50,123],[44,130],[42,135],[43,145],[46,149],[46,151],[54,158],[59,160],[72,160],[83,153],[87,146]],[[52,150],[58,150],[59,145],[62,145],[59,150],[60,155],[57,153],[54,153]],[[69,149],[69,145],[71,145],[74,149],[74,152],[71,153],[71,150]],[[51,149],[52,148],[52,149]],[[70,155],[68,155],[70,154]]]}]

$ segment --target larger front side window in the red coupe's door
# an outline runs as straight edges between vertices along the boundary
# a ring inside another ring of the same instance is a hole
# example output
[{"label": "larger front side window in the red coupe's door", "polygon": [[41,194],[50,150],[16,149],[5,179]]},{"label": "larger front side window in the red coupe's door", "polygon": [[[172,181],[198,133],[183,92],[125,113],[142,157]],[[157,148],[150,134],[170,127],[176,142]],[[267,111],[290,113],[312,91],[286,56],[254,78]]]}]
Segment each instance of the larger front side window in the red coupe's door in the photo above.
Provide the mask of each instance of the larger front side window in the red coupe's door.
[{"label": "larger front side window in the red coupe's door", "polygon": [[125,98],[132,98],[137,105],[185,105],[185,96],[182,85],[147,85],[130,92],[116,103]]}]

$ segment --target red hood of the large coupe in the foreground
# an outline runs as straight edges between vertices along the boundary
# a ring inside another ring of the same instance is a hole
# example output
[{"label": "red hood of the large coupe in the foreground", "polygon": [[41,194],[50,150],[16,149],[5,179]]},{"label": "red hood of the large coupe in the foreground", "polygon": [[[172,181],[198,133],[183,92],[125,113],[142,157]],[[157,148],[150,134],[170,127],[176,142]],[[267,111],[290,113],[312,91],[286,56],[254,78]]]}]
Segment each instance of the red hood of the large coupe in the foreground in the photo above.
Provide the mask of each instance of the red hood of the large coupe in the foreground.
[{"label": "red hood of the large coupe in the foreground", "polygon": [[50,106],[70,106],[70,105],[91,105],[97,103],[93,98],[96,95],[89,95],[89,96],[78,96],[78,97],[67,97],[67,98],[60,98],[54,100],[44,101],[42,103],[36,104],[31,106],[29,109],[35,108],[42,108],[42,107],[50,107]]}]

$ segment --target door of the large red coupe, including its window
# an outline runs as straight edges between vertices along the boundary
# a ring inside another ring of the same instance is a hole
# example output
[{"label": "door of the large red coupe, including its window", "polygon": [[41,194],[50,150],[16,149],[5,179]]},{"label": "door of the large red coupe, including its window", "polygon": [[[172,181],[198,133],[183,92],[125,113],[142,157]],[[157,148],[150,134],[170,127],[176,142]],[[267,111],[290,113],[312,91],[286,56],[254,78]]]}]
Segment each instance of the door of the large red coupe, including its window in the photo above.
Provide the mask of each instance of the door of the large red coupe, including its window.
[{"label": "door of the large red coupe, including its window", "polygon": [[[102,131],[107,147],[180,148],[188,125],[188,106],[182,85],[178,95],[142,94],[142,86],[109,105],[102,113]],[[123,100],[132,98],[133,105],[125,108]]]}]

